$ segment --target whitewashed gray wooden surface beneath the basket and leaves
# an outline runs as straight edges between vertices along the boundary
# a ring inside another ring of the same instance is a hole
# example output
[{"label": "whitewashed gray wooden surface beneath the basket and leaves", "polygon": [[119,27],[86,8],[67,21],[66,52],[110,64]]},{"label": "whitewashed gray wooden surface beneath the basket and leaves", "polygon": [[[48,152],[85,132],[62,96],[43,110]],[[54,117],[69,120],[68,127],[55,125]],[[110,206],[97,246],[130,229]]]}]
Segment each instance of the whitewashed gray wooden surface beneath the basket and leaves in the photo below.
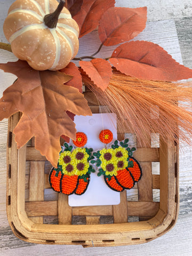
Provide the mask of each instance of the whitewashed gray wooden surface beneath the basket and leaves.
[{"label": "whitewashed gray wooden surface beneath the basket and leaves", "polygon": [[[0,0],[0,39],[3,35],[3,22],[13,0]],[[103,1],[105,2],[105,1]],[[116,0],[120,7],[148,7],[148,23],[137,39],[157,43],[172,57],[192,68],[192,1],[191,0]],[[94,44],[93,42],[94,38]],[[78,55],[95,52],[99,45],[97,33],[82,38],[86,49]],[[111,49],[103,50],[100,55]],[[98,56],[100,56],[98,55]],[[12,53],[0,50],[0,62],[17,60]],[[15,76],[0,71],[0,97]],[[6,136],[7,120],[0,122],[0,255],[192,255],[192,148],[180,149],[180,212],[175,227],[162,237],[147,244],[119,247],[96,247],[83,249],[74,245],[38,245],[21,241],[15,237],[6,218]]]}]

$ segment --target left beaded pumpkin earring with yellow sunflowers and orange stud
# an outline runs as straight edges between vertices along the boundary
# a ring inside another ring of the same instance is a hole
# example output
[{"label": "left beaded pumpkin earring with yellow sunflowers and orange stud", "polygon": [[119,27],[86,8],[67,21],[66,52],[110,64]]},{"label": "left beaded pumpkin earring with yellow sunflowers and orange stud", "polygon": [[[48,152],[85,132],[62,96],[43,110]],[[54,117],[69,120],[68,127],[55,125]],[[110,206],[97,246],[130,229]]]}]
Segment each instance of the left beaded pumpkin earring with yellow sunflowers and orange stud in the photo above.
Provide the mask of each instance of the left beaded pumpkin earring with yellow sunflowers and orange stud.
[{"label": "left beaded pumpkin earring with yellow sunflowers and orange stud", "polygon": [[63,144],[59,154],[58,167],[51,169],[49,182],[53,190],[65,195],[82,195],[85,193],[91,172],[95,172],[90,165],[92,148],[84,148],[87,142],[86,134],[76,133],[76,148],[67,142]]}]

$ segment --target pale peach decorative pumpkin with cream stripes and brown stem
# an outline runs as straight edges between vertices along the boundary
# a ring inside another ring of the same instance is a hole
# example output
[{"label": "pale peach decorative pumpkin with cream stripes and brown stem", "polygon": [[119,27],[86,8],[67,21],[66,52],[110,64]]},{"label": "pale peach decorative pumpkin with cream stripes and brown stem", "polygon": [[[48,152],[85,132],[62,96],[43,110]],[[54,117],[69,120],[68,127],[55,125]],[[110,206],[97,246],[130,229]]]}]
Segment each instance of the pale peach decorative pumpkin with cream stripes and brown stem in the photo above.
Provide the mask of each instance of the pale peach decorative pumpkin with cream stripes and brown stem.
[{"label": "pale peach decorative pumpkin with cream stripes and brown stem", "polygon": [[12,52],[36,70],[65,68],[78,52],[79,28],[61,0],[17,0],[4,22]]}]

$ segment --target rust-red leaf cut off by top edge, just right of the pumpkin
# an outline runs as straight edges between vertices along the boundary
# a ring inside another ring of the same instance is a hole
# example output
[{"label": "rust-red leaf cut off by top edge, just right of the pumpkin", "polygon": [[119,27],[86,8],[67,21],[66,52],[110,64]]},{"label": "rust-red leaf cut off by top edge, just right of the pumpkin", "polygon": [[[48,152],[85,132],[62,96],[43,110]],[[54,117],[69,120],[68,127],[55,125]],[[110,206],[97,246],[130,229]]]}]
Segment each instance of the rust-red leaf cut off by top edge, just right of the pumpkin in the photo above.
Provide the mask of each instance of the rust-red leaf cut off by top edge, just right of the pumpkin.
[{"label": "rust-red leaf cut off by top edge, just right of the pumpkin", "polygon": [[81,10],[73,17],[79,26],[79,37],[93,31],[109,8],[115,5],[115,0],[83,0]]}]

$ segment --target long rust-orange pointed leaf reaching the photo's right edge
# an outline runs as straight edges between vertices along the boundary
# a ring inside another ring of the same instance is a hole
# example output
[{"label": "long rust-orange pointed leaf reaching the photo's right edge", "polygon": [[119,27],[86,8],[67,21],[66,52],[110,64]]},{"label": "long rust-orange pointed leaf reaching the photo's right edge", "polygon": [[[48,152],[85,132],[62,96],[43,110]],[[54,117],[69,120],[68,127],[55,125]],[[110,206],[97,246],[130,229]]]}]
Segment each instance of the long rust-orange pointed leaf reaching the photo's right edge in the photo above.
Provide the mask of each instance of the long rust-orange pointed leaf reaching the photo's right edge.
[{"label": "long rust-orange pointed leaf reaching the photo's right edge", "polygon": [[109,61],[125,75],[160,81],[192,77],[192,70],[180,65],[161,46],[135,41],[118,46]]}]

